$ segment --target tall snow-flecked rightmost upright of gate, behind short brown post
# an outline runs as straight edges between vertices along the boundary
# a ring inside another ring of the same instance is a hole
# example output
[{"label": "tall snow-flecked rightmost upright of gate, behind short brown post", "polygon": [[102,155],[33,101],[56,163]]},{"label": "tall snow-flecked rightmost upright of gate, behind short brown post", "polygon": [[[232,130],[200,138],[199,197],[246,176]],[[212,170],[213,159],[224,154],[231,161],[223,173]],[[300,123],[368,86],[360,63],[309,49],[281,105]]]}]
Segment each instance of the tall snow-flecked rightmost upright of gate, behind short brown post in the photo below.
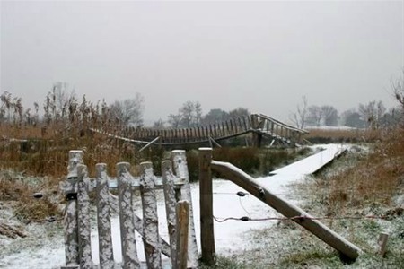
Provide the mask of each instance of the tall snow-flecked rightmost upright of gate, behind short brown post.
[{"label": "tall snow-flecked rightmost upright of gate, behind short brown post", "polygon": [[198,247],[197,236],[195,234],[194,214],[192,210],[192,196],[189,185],[189,171],[187,166],[187,155],[184,150],[172,151],[172,162],[174,171],[177,177],[184,180],[184,185],[181,188],[181,199],[189,202],[189,252],[188,266],[191,268],[198,267]]}]

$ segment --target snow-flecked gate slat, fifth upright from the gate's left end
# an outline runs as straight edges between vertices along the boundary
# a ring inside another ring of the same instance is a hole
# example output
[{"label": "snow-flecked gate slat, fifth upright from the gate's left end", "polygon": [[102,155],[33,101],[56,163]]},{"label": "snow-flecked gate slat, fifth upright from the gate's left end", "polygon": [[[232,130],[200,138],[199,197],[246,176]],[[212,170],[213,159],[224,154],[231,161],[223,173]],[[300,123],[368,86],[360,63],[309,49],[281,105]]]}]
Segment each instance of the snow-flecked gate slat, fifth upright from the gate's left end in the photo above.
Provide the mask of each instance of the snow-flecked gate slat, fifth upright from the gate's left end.
[{"label": "snow-flecked gate slat, fifth upright from the gate's left end", "polygon": [[162,247],[159,240],[159,221],[157,200],[154,188],[153,164],[150,161],[140,163],[140,195],[143,205],[143,242],[147,268],[162,268]]}]

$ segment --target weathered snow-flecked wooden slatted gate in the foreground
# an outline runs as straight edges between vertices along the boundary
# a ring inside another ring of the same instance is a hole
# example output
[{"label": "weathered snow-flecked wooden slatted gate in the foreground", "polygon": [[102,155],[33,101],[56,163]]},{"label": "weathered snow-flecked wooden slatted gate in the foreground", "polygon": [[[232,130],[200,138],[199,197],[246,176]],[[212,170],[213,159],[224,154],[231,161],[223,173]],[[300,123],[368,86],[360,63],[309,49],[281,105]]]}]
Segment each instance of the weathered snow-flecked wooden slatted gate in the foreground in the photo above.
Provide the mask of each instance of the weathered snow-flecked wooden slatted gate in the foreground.
[{"label": "weathered snow-flecked wooden slatted gate in the foreground", "polygon": [[[60,184],[66,194],[66,266],[62,269],[102,269],[117,265],[111,237],[110,218],[113,210],[119,213],[122,268],[141,267],[136,253],[135,230],[143,239],[147,268],[162,268],[162,254],[171,257],[172,268],[198,266],[187,160],[184,151],[173,151],[171,155],[173,165],[171,161],[162,161],[161,179],[154,176],[151,162],[140,164],[140,178],[130,174],[128,162],[117,163],[117,178],[108,177],[105,163],[97,164],[96,177],[89,178],[87,167],[83,164],[83,152],[69,152],[68,175],[66,181]],[[169,242],[159,235],[157,188],[162,188],[164,192]],[[110,189],[116,189],[118,197],[111,195]],[[143,218],[135,213],[135,189],[140,190]],[[90,197],[94,196],[100,265],[94,265],[92,261]]]}]

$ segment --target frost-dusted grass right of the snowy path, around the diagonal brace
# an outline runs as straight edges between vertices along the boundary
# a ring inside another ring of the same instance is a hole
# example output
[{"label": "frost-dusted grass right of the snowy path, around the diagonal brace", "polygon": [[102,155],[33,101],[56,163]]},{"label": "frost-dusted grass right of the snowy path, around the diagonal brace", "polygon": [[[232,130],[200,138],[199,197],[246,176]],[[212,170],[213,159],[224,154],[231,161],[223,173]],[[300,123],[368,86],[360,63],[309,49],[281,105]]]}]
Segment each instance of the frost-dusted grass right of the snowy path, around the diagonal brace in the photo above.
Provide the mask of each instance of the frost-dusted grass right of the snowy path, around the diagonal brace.
[{"label": "frost-dusted grass right of the snowy path, around the diagonal brace", "polygon": [[[328,168],[290,186],[303,209],[325,217],[327,226],[364,251],[356,261],[341,258],[294,222],[278,221],[247,234],[246,244],[254,247],[218,257],[214,268],[402,268],[403,133],[398,127],[383,132],[378,143],[353,146]],[[382,232],[389,234],[385,256],[377,243]]]}]

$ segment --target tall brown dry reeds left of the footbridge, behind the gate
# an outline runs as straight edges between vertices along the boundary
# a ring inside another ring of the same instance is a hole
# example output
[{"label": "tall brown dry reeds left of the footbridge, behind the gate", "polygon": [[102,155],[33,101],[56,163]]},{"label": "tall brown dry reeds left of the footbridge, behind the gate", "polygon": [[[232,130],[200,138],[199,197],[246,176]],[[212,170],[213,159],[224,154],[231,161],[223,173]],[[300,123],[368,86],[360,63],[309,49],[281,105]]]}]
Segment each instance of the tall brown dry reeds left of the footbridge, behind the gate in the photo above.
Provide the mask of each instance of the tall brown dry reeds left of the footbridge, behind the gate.
[{"label": "tall brown dry reeds left of the footbridge, behind the gate", "polygon": [[[81,102],[68,100],[65,114],[59,114],[49,101],[47,98],[46,117],[41,122],[0,118],[0,200],[12,204],[24,221],[43,221],[60,214],[58,204],[64,196],[58,185],[66,177],[69,151],[83,150],[91,177],[96,163],[107,163],[109,174],[114,176],[117,162],[136,163],[142,157],[133,144],[89,131],[97,128],[119,133],[121,126],[109,116],[105,104],[94,105],[84,97]],[[43,197],[33,198],[37,192]]]}]

